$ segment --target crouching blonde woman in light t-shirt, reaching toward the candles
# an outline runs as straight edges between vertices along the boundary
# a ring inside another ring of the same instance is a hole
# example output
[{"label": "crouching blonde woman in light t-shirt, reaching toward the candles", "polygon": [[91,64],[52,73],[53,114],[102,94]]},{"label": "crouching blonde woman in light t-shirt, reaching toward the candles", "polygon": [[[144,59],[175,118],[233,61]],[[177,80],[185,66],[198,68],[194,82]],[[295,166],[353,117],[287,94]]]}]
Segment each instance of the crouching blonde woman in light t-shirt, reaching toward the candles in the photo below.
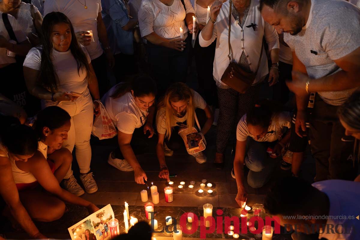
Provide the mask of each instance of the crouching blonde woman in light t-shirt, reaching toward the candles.
[{"label": "crouching blonde woman in light t-shirt, reaching toward the candles", "polygon": [[[179,149],[184,144],[186,149],[189,149],[188,143],[177,133],[180,127],[191,128],[194,126],[195,109],[197,108],[204,110],[196,111],[198,112],[197,117],[200,124],[203,124],[199,133],[204,135],[209,131],[214,121],[214,116],[205,100],[185,83],[177,82],[167,89],[163,100],[159,104],[156,116],[156,126],[159,133],[156,153],[160,163],[165,163],[165,155],[171,156],[173,150]],[[202,135],[198,134],[195,140],[198,142],[202,140]],[[166,145],[164,145],[164,140]],[[193,154],[193,156],[198,163],[206,162],[206,155],[203,151]],[[161,168],[163,171],[159,177],[168,178],[166,165],[161,166]]]}]

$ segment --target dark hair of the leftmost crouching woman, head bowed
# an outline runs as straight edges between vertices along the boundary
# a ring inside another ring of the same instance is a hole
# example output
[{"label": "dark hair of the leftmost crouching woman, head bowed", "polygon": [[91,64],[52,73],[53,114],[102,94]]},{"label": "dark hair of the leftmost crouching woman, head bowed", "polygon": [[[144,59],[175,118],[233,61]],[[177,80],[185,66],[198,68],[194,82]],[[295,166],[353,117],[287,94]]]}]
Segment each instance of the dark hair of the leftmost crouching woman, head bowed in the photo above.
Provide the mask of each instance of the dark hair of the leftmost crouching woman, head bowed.
[{"label": "dark hair of the leftmost crouching woman, head bowed", "polygon": [[37,137],[31,127],[15,117],[0,115],[1,143],[12,154],[32,155],[37,150]]}]

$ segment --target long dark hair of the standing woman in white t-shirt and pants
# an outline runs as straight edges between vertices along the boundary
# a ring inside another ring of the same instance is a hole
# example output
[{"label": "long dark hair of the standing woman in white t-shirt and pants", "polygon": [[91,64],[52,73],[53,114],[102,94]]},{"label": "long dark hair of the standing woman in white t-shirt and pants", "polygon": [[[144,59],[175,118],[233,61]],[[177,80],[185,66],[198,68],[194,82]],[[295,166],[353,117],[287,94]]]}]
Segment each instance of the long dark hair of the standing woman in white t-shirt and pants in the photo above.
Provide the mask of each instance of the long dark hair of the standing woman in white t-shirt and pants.
[{"label": "long dark hair of the standing woman in white t-shirt and pants", "polygon": [[66,23],[69,25],[71,30],[71,43],[70,51],[74,56],[77,63],[77,71],[80,75],[80,69],[84,68],[86,71],[86,76],[90,76],[90,67],[87,62],[86,55],[81,49],[80,44],[77,42],[74,28],[65,14],[60,12],[51,12],[46,14],[44,20],[42,21],[42,38],[41,45],[38,49],[41,52],[41,67],[40,74],[38,77],[39,83],[44,86],[46,89],[51,90],[52,92],[57,91],[58,87],[58,76],[55,72],[53,63],[51,62],[51,53],[53,51],[53,42],[51,40],[51,35],[53,32],[53,27],[58,23]]}]

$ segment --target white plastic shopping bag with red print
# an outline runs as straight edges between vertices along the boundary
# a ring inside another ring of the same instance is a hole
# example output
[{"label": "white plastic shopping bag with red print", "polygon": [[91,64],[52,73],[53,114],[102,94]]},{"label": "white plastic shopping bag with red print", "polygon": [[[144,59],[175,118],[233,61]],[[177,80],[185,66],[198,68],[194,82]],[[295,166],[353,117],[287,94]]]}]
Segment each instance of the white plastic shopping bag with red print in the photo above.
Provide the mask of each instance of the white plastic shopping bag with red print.
[{"label": "white plastic shopping bag with red print", "polygon": [[92,131],[93,135],[98,137],[100,140],[116,136],[116,128],[104,105],[98,100],[95,100],[95,102],[100,105],[100,114],[95,117]]}]

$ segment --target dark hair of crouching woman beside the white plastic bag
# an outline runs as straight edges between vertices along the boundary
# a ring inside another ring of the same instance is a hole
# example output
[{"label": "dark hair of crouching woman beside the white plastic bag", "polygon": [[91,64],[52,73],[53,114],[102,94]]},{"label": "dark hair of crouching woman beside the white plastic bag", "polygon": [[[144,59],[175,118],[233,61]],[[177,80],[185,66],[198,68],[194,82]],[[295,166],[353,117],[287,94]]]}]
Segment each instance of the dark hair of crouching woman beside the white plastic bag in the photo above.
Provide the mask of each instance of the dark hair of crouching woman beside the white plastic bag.
[{"label": "dark hair of crouching woman beside the white plastic bag", "polygon": [[118,83],[111,97],[119,98],[131,90],[134,91],[134,97],[157,94],[155,81],[145,74],[140,74],[133,76],[130,81]]}]

